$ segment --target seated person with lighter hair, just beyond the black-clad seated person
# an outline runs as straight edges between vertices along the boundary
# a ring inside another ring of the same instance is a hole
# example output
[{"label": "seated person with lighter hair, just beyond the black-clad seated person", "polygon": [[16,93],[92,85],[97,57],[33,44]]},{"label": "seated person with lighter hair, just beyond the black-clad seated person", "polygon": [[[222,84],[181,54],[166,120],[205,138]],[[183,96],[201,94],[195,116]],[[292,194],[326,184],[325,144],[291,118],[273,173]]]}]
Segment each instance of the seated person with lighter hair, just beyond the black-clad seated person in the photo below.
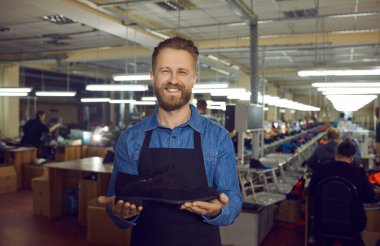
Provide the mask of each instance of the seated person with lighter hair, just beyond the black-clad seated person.
[{"label": "seated person with lighter hair, just beyond the black-clad seated person", "polygon": [[339,131],[336,128],[327,130],[327,143],[319,145],[307,161],[313,171],[317,165],[326,164],[335,160],[335,151],[338,147]]}]

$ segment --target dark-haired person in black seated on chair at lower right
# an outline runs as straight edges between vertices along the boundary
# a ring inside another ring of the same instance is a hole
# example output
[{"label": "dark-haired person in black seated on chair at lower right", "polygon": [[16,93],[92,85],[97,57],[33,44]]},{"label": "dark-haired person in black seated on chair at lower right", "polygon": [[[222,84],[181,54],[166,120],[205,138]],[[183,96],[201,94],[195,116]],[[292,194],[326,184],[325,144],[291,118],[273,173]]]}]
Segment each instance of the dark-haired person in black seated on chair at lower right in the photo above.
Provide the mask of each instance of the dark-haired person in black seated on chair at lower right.
[{"label": "dark-haired person in black seated on chair at lower right", "polygon": [[[352,142],[343,141],[337,147],[335,161],[328,165],[319,165],[315,167],[308,189],[311,198],[316,196],[318,184],[321,180],[337,176],[347,180],[356,187],[359,199],[362,203],[375,202],[375,192],[369,183],[364,169],[354,167],[351,164],[355,158],[355,151],[355,145],[352,144]],[[364,230],[367,223],[367,217],[362,203],[359,206],[360,211],[358,211],[358,215],[359,228]]]}]

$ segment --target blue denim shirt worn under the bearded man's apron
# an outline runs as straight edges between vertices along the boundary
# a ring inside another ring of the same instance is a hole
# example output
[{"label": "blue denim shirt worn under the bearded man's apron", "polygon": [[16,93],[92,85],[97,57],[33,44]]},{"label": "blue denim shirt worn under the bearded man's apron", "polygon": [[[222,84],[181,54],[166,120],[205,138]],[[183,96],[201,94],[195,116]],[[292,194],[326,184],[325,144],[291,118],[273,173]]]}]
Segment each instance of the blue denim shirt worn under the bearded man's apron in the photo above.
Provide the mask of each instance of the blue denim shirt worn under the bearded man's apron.
[{"label": "blue denim shirt worn under the bearded man's apron", "polygon": [[[151,116],[120,135],[107,195],[115,195],[114,185],[118,172],[138,174],[140,150],[147,131],[153,129],[150,148],[192,149],[194,148],[193,130],[195,130],[201,133],[208,185],[216,188],[220,193],[225,193],[229,199],[228,204],[223,207],[217,217],[202,216],[203,220],[217,226],[230,225],[239,215],[243,202],[237,178],[235,151],[230,135],[220,125],[201,116],[193,105],[190,105],[190,108],[191,119],[174,129],[159,125],[156,107]],[[138,223],[138,216],[131,220],[122,220],[114,216],[110,209],[107,213],[120,228],[127,228]]]}]

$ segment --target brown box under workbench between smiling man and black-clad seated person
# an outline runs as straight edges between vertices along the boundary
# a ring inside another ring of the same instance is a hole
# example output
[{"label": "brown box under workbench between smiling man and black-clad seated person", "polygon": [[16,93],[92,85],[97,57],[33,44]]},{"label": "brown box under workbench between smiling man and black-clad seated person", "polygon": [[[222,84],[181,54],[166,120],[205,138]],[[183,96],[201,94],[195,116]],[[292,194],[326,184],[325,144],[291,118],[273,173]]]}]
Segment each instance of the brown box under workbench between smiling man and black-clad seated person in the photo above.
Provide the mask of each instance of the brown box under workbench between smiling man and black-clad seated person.
[{"label": "brown box under workbench between smiling man and black-clad seated person", "polygon": [[302,199],[284,200],[279,203],[275,219],[287,222],[296,222],[302,218]]}]

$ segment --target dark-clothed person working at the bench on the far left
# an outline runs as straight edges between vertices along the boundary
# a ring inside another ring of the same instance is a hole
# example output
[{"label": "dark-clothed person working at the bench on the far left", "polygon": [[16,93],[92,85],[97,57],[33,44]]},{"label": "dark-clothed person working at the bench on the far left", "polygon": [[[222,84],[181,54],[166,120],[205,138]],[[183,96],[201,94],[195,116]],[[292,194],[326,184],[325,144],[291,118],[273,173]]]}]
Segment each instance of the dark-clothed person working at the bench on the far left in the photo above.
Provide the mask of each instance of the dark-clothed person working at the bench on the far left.
[{"label": "dark-clothed person working at the bench on the far left", "polygon": [[44,142],[42,136],[44,133],[51,133],[58,127],[60,123],[48,128],[44,123],[46,120],[46,114],[43,111],[38,111],[36,117],[29,120],[23,127],[24,136],[21,140],[21,145],[32,146],[39,148]]}]

